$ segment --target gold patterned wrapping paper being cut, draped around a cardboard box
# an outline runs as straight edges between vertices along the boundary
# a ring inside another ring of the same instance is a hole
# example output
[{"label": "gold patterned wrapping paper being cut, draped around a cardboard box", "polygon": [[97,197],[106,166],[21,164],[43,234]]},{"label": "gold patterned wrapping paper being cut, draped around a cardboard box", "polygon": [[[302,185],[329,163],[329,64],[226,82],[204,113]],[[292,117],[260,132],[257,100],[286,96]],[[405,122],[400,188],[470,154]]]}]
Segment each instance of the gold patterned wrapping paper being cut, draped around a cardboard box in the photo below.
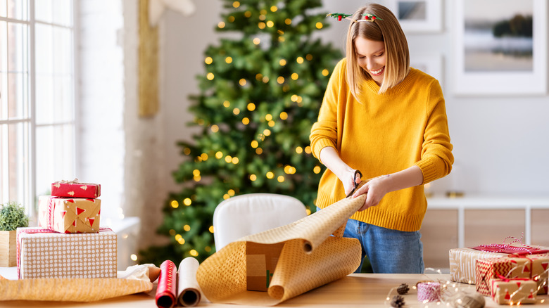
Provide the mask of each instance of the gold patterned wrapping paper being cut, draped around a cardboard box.
[{"label": "gold patterned wrapping paper being cut, draped around a cardboard box", "polygon": [[[297,222],[229,243],[198,267],[196,278],[204,295],[211,302],[270,306],[353,273],[360,264],[360,243],[341,236],[365,198],[345,198]],[[281,243],[267,292],[247,290],[246,248],[257,255],[262,245]]]}]

